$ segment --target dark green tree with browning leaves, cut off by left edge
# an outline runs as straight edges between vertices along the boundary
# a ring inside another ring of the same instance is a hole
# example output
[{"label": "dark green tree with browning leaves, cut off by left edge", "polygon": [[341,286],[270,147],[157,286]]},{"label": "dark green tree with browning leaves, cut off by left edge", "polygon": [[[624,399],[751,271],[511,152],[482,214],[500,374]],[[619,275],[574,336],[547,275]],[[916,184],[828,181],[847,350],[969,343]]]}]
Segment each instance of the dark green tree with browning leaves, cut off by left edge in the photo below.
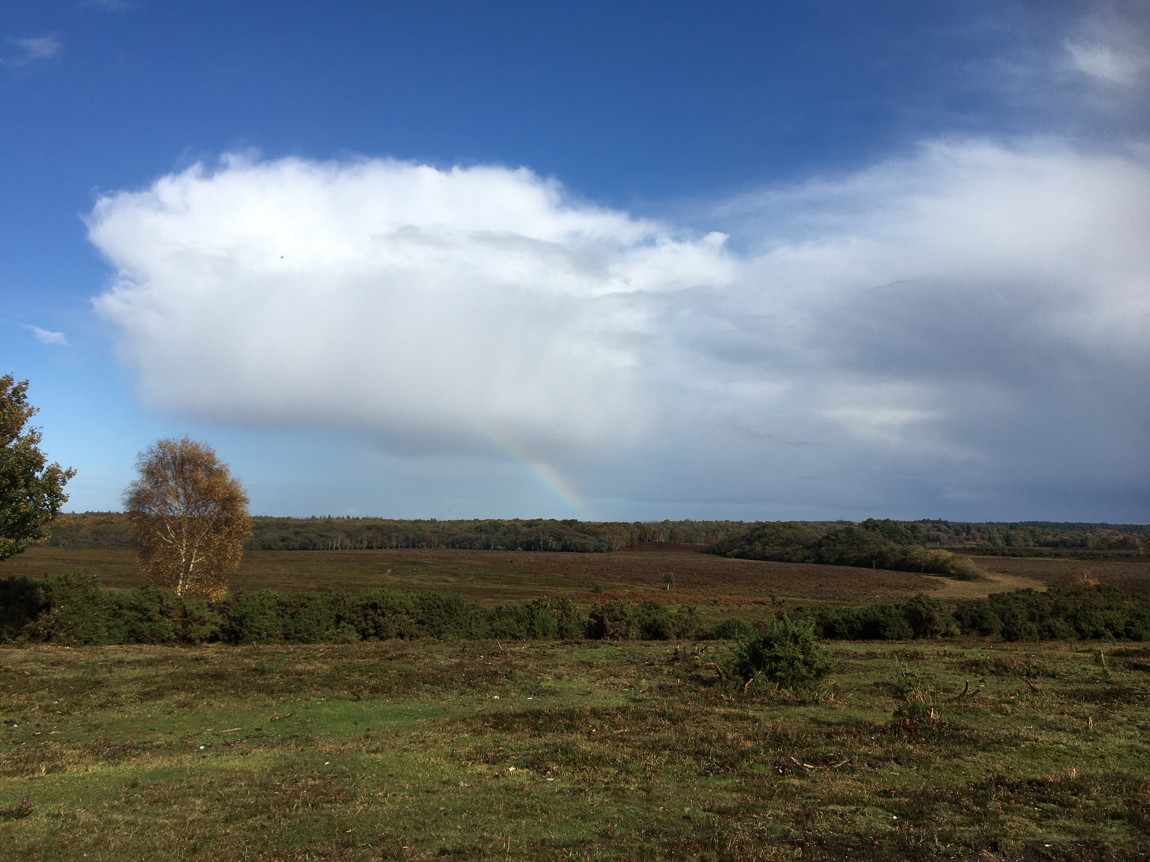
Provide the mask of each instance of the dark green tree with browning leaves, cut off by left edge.
[{"label": "dark green tree with browning leaves, cut off by left edge", "polygon": [[48,538],[48,524],[68,502],[64,484],[76,475],[47,464],[39,429],[24,430],[36,413],[28,380],[0,377],[0,560]]}]

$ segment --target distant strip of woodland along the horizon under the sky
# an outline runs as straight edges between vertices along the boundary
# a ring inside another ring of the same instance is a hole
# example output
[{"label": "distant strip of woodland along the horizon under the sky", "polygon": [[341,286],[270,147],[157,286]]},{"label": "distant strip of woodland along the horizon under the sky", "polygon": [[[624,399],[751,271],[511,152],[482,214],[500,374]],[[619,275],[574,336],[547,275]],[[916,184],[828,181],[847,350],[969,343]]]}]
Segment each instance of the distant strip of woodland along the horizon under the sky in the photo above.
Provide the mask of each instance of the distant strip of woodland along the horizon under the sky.
[{"label": "distant strip of woodland along the horizon under the sky", "polygon": [[[882,529],[890,533],[884,534],[885,538],[907,547],[918,545],[973,553],[1082,556],[1129,554],[1150,547],[1150,526],[1137,524],[960,524],[949,521],[877,522],[873,518],[864,522],[864,525],[867,524],[883,524]],[[369,517],[255,517],[253,534],[246,547],[260,551],[469,548],[604,553],[644,541],[668,541],[719,545],[726,548],[721,553],[727,553],[742,541],[734,537],[745,537],[756,531],[785,529],[796,536],[814,534],[821,538],[846,526],[852,524],[845,521],[627,523],[550,518],[401,521]],[[85,511],[57,515],[52,522],[52,538],[47,544],[56,547],[130,547],[132,538],[126,515]],[[913,568],[914,564],[907,563],[910,570],[918,571],[918,568]]]}]

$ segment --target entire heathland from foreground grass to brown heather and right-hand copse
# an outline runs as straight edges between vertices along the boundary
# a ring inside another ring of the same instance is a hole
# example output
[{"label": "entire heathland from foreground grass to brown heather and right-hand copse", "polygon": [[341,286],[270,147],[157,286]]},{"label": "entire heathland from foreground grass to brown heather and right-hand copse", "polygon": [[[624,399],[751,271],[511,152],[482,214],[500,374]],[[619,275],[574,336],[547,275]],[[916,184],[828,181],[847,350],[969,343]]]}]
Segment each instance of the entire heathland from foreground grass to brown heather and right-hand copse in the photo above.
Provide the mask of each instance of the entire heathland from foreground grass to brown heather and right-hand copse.
[{"label": "entire heathland from foreground grass to brown heather and right-hand copse", "polygon": [[[712,553],[247,551],[215,601],[146,586],[114,541],[32,548],[0,563],[0,846],[1144,861],[1145,557],[920,539],[873,522],[743,524]],[[880,568],[919,553],[1049,588]]]}]

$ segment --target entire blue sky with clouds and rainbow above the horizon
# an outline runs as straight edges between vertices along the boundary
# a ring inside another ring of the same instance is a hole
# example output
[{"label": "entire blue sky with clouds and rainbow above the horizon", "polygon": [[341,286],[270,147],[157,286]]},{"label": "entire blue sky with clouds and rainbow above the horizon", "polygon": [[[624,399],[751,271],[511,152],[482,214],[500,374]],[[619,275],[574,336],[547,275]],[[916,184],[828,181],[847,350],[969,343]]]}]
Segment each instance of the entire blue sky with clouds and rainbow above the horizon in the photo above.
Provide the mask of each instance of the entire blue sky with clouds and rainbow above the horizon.
[{"label": "entire blue sky with clouds and rainbow above the horizon", "polygon": [[0,2],[66,510],[1150,521],[1145,2]]}]

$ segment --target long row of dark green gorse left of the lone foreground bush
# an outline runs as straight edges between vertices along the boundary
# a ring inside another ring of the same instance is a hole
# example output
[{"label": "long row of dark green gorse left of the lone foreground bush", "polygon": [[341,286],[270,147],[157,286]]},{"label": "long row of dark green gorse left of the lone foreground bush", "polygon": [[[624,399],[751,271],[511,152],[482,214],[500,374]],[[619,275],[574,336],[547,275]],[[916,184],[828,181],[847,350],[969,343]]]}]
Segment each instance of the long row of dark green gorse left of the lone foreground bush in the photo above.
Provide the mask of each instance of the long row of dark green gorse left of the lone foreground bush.
[{"label": "long row of dark green gorse left of the lone foreground bush", "polygon": [[156,587],[105,590],[80,572],[0,579],[0,640],[107,644],[323,644],[391,638],[605,638],[705,636],[695,608],[598,602],[584,616],[567,597],[485,608],[461,595],[373,588],[235,593],[207,602]]}]

